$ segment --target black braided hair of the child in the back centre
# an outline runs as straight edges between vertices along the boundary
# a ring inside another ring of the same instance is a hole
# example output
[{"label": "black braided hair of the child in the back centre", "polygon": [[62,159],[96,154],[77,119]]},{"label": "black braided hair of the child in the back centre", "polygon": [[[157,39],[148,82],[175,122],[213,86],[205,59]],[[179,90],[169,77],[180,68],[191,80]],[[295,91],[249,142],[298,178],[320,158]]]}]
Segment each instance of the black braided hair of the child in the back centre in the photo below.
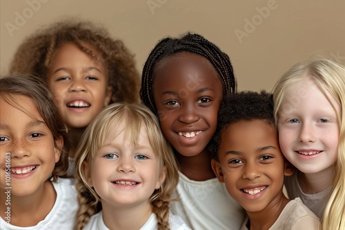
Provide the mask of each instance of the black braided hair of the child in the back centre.
[{"label": "black braided hair of the child in the back centre", "polygon": [[161,39],[150,52],[144,65],[141,76],[141,101],[147,105],[152,112],[157,114],[157,108],[153,99],[152,85],[155,80],[155,73],[159,63],[167,57],[174,56],[180,52],[191,52],[204,56],[217,70],[219,80],[223,87],[223,96],[233,94],[237,91],[237,82],[233,73],[233,66],[227,54],[199,34],[186,33],[180,38],[166,37]]}]

